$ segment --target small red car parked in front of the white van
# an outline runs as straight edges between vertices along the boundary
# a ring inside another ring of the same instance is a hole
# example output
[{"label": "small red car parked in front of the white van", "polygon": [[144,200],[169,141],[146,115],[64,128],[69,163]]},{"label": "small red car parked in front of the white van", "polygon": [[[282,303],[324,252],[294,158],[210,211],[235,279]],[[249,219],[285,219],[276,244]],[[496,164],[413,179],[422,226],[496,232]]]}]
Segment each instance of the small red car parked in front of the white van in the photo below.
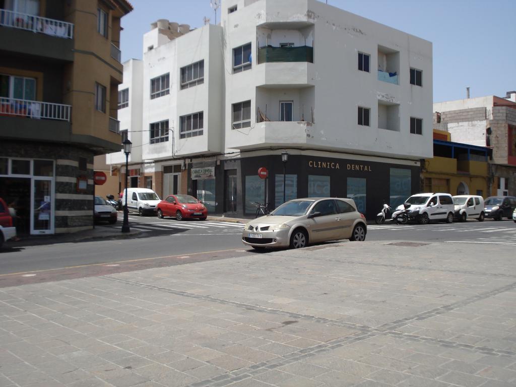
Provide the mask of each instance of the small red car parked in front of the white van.
[{"label": "small red car parked in front of the white van", "polygon": [[157,205],[158,218],[173,216],[176,220],[198,218],[205,220],[208,210],[199,200],[190,195],[169,195]]}]

